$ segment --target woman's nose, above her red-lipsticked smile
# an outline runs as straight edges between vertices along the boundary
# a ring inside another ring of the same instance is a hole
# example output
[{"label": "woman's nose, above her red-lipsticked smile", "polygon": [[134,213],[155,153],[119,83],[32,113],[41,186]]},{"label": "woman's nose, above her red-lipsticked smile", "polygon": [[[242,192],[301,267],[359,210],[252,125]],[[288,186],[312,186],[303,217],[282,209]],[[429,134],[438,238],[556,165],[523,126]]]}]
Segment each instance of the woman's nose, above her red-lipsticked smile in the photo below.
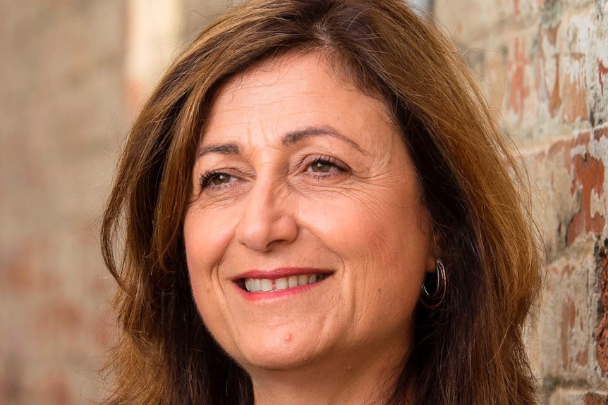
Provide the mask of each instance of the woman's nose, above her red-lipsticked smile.
[{"label": "woman's nose, above her red-lipsticked smile", "polygon": [[256,182],[245,199],[236,228],[237,241],[249,249],[265,252],[293,242],[298,225],[288,193],[272,182]]}]

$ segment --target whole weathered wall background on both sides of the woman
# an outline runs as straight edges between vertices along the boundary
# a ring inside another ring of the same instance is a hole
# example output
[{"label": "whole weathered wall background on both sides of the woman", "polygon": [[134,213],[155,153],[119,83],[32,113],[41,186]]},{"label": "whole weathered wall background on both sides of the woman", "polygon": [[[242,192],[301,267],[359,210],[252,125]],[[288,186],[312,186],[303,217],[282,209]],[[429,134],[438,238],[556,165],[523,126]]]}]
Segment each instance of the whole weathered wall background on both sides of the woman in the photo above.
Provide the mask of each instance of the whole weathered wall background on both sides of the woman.
[{"label": "whole weathered wall background on both sides of the woman", "polygon": [[[0,404],[99,401],[114,283],[97,218],[117,153],[226,3],[0,0]],[[454,39],[535,184],[548,266],[528,346],[543,401],[607,404],[607,0],[411,3]]]}]

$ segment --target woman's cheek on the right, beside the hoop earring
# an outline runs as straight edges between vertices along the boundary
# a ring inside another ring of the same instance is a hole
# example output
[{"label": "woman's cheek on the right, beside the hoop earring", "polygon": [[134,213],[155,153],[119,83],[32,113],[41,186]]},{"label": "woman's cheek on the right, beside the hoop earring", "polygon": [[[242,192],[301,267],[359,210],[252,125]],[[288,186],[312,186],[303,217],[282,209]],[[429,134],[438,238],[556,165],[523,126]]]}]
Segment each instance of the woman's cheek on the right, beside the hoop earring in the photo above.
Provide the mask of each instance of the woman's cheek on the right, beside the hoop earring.
[{"label": "woman's cheek on the right, beside the hoop earring", "polygon": [[328,209],[304,206],[300,214],[342,258],[352,293],[365,297],[358,301],[388,301],[409,309],[418,301],[431,237],[424,210],[417,203],[396,202],[341,199]]}]

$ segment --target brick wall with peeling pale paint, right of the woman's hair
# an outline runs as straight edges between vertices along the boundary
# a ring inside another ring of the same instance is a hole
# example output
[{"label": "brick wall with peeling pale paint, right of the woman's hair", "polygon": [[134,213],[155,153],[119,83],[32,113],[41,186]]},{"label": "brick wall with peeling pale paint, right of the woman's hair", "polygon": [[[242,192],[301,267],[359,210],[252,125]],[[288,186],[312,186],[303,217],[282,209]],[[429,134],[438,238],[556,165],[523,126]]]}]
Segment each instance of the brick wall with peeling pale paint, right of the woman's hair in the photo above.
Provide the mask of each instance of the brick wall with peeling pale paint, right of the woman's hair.
[{"label": "brick wall with peeling pale paint, right of the woman's hair", "polygon": [[535,183],[547,247],[530,352],[547,404],[606,404],[608,3],[439,0]]}]

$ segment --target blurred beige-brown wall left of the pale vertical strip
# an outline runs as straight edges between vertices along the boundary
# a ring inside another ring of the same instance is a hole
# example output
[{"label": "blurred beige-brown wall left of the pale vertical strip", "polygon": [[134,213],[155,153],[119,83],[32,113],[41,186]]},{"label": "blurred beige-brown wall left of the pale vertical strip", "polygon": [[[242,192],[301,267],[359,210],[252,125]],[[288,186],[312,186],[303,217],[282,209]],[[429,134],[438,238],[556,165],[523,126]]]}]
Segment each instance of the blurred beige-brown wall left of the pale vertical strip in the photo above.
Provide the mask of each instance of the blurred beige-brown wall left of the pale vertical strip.
[{"label": "blurred beige-brown wall left of the pale vertical strip", "polygon": [[124,6],[1,1],[0,404],[97,399],[94,221],[126,125]]}]

